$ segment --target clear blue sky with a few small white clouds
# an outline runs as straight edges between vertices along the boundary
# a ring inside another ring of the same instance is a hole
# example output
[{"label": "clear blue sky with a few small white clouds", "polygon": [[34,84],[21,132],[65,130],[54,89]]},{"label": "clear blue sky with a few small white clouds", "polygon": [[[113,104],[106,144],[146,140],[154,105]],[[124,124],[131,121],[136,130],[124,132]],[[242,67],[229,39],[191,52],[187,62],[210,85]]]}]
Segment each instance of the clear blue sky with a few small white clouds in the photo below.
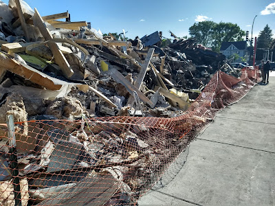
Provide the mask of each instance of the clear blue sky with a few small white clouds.
[{"label": "clear blue sky with a few small white clouds", "polygon": [[[2,0],[3,1],[3,0]],[[238,24],[242,30],[259,34],[265,25],[273,30],[275,38],[275,0],[174,0],[174,1],[87,1],[87,0],[25,0],[37,8],[41,16],[69,10],[72,21],[91,22],[91,27],[102,33],[128,31],[129,38],[162,31],[170,38],[168,30],[177,36],[188,35],[194,23],[203,20]],[[8,3],[8,0],[4,0]]]}]

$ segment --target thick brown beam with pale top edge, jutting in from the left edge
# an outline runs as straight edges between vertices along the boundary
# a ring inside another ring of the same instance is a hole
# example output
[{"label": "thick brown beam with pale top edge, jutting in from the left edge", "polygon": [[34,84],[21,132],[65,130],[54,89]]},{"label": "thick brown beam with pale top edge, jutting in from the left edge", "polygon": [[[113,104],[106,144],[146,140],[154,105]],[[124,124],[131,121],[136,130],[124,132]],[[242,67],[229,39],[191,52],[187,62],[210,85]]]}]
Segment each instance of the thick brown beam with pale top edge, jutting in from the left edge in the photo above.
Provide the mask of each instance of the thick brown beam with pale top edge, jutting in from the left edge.
[{"label": "thick brown beam with pale top edge, jutting in from the left edge", "polygon": [[0,61],[1,61],[1,69],[6,69],[12,73],[17,74],[25,78],[26,80],[30,80],[35,84],[39,84],[42,87],[50,90],[59,90],[65,84],[72,84],[78,86],[79,84],[64,82],[62,80],[58,80],[56,78],[52,78],[51,76],[47,76],[47,74],[42,73],[28,65],[23,65],[16,60],[8,58],[5,54],[0,52]]}]

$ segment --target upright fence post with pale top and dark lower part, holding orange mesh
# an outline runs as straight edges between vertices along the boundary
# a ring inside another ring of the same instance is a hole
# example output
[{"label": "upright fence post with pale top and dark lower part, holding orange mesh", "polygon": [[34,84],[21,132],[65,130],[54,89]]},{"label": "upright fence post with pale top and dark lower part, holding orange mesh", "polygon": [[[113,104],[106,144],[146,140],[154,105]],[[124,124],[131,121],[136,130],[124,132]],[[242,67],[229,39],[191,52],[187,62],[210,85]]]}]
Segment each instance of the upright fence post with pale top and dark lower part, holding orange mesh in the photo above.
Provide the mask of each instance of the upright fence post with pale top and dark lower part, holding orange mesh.
[{"label": "upright fence post with pale top and dark lower part, holding orange mesh", "polygon": [[10,144],[10,170],[12,170],[12,185],[14,187],[14,201],[16,206],[21,206],[20,180],[17,161],[17,141],[14,133],[14,120],[12,115],[7,117],[8,138]]}]

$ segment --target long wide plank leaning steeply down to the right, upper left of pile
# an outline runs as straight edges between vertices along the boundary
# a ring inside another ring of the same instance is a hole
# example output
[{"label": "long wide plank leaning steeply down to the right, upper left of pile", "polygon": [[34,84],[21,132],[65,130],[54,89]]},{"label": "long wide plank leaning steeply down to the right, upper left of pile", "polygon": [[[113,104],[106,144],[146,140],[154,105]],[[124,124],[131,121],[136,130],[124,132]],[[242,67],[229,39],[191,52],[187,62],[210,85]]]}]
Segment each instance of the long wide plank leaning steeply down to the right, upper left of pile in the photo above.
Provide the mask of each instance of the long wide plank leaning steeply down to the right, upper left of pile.
[{"label": "long wide plank leaning steeply down to the right, upper left of pile", "polygon": [[[34,25],[36,25],[36,27],[39,28],[42,36],[45,38],[46,41],[52,40],[52,34],[50,34],[50,30],[47,28],[47,25],[45,25],[45,22],[43,21],[39,12],[36,10],[36,8],[34,8],[34,11]],[[61,70],[63,71],[65,77],[71,77],[74,74],[74,71],[70,67],[61,50],[58,48],[58,45],[56,45],[56,43],[48,43],[47,45],[49,45],[52,54],[54,54],[54,60],[57,63],[57,65],[61,67]]]}]

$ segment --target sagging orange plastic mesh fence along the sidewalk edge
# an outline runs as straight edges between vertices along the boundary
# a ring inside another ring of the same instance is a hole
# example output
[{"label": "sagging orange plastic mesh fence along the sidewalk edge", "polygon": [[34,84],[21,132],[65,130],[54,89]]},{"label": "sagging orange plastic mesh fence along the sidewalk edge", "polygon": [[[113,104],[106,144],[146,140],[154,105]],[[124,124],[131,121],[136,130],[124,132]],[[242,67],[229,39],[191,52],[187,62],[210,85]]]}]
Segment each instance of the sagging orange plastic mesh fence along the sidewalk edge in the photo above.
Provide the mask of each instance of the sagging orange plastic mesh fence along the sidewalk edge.
[{"label": "sagging orange plastic mesh fence along the sidewalk edge", "polygon": [[[1,205],[135,205],[217,111],[243,98],[258,69],[221,71],[177,117],[102,117],[0,125]],[[16,149],[16,150],[15,150]]]}]

